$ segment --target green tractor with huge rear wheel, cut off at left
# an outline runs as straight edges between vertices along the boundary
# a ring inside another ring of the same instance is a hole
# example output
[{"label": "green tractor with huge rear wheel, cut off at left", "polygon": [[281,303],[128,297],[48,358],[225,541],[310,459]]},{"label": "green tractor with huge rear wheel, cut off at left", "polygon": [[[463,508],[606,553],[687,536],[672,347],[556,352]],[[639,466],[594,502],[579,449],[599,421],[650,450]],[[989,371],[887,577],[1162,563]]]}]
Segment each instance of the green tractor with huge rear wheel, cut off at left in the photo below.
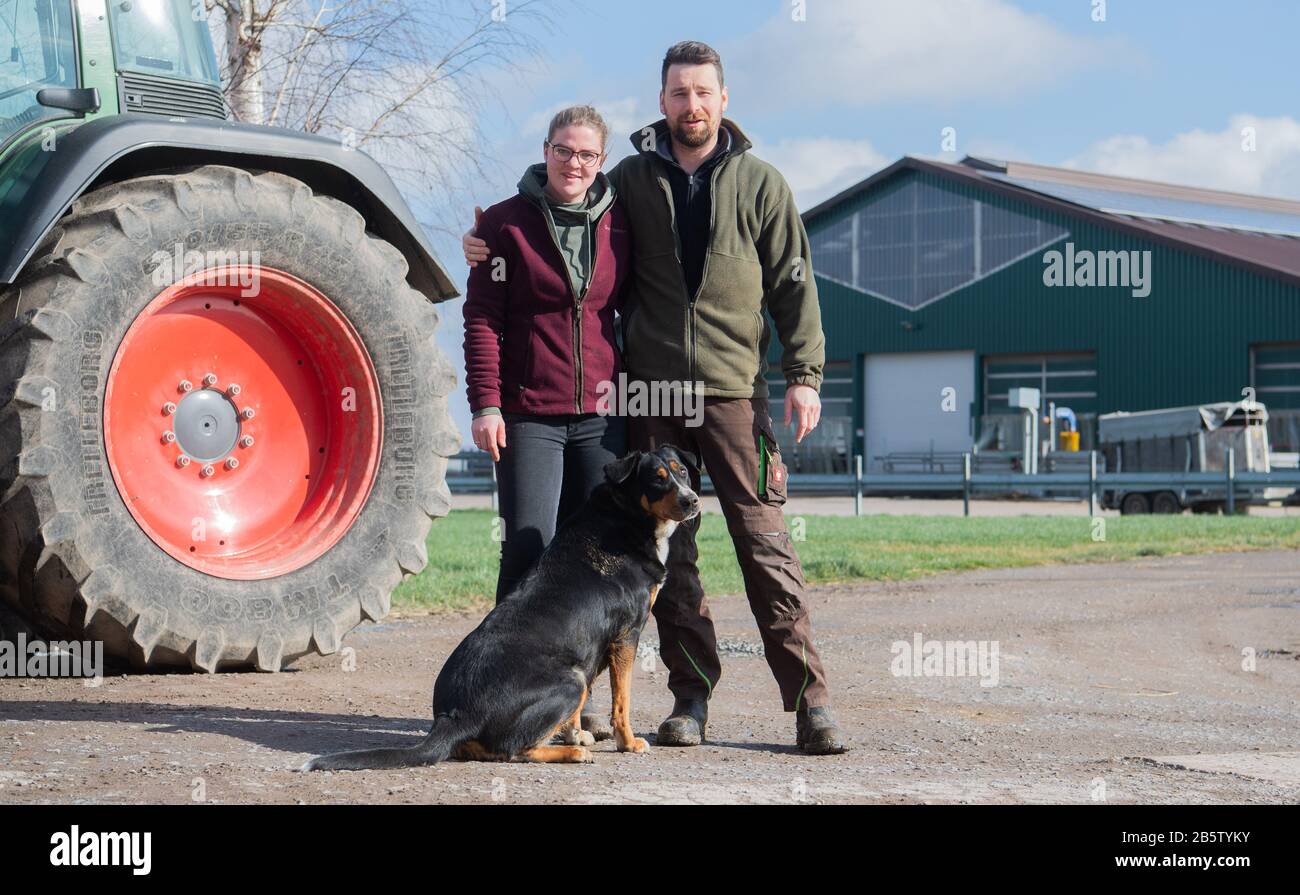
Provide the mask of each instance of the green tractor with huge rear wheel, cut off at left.
[{"label": "green tractor with huge rear wheel, cut off at left", "polygon": [[229,118],[191,0],[0,0],[10,639],[280,671],[428,563],[456,289],[373,159]]}]

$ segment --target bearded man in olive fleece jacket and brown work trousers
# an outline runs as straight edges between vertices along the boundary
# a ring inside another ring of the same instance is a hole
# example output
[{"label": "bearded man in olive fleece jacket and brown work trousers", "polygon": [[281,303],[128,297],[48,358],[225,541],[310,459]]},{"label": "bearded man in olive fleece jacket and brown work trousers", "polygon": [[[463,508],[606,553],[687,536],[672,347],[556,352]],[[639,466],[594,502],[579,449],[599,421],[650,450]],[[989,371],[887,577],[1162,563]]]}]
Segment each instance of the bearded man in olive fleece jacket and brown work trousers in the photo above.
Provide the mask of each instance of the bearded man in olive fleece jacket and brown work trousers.
[{"label": "bearded man in olive fleece jacket and brown work trousers", "polygon": [[[758,622],[767,663],[796,741],[810,755],[852,748],[831,714],[822,661],[812,645],[803,572],[781,505],[785,464],[768,416],[763,311],[784,349],[785,424],[802,441],[820,418],[826,340],[811,250],[794,198],[771,165],[749,154],[741,129],[724,118],[722,59],[685,42],[663,61],[664,118],[632,140],[610,181],[632,229],[633,265],[623,319],[632,379],[685,382],[703,395],[703,423],[634,416],[633,449],[673,444],[701,457],[727,518]],[[472,264],[488,247],[465,237]],[[698,488],[698,481],[693,483]],[[659,654],[675,696],[659,745],[697,745],[708,699],[722,676],[718,640],[697,567],[699,518],[677,527],[668,576],[654,605]]]}]

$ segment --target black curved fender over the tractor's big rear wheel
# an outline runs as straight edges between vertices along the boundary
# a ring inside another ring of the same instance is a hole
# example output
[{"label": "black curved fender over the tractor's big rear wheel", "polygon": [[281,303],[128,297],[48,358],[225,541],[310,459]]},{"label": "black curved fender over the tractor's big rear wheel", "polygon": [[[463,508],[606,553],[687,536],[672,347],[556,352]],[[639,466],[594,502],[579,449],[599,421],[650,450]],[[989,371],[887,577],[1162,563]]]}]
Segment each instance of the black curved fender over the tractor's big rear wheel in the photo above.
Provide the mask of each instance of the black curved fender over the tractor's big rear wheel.
[{"label": "black curved fender over the tractor's big rear wheel", "polygon": [[0,228],[0,284],[17,280],[58,219],[95,186],[221,164],[287,174],[347,203],[406,256],[411,286],[430,302],[459,295],[393,180],[374,159],[338,140],[285,127],[129,113],[58,130],[52,147],[43,142],[32,139],[10,156],[17,172],[0,198],[0,221],[9,222]]}]

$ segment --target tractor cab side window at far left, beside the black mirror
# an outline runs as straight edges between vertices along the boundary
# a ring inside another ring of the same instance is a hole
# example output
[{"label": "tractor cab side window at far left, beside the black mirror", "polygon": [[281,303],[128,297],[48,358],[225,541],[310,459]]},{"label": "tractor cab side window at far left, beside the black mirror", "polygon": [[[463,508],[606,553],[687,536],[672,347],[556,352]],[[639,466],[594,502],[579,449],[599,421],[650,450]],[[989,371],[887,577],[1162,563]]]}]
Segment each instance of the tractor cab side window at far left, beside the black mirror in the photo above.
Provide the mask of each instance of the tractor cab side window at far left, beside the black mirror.
[{"label": "tractor cab side window at far left, beside the black mirror", "polygon": [[70,0],[0,0],[0,146],[38,121],[68,117],[36,103],[36,91],[75,86]]}]

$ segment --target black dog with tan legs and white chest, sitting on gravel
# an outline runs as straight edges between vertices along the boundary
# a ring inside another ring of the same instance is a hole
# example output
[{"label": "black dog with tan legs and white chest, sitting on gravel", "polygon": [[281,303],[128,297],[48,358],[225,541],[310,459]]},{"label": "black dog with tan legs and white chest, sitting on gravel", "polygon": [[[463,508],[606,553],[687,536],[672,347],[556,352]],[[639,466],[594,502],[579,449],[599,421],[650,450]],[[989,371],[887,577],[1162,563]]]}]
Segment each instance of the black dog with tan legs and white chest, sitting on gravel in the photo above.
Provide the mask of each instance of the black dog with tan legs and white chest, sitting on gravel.
[{"label": "black dog with tan legs and white chest, sitting on gravel", "polygon": [[[413,768],[447,758],[590,762],[580,715],[608,669],[619,752],[632,732],[632,663],[667,576],[668,539],[699,514],[699,463],[663,445],[604,467],[604,481],[555,533],[532,571],[452,650],[433,686],[421,743],[326,755],[302,770]],[[551,744],[559,735],[562,744]]]}]

